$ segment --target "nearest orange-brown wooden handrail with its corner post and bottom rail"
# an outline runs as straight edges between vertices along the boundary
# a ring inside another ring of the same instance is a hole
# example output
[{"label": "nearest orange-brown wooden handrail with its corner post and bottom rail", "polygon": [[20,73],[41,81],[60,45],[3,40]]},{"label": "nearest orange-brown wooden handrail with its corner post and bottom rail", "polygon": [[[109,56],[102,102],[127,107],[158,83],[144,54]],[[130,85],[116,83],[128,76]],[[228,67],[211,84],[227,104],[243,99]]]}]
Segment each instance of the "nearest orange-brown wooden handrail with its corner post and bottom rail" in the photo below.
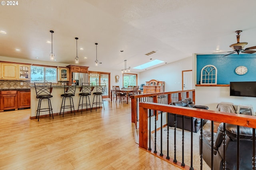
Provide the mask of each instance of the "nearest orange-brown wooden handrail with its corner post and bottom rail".
[{"label": "nearest orange-brown wooden handrail with its corner post and bottom rail", "polygon": [[[158,104],[152,102],[140,102],[139,103],[139,147],[144,150],[148,148],[148,109],[163,111],[167,113],[174,113],[178,115],[186,115],[189,117],[197,117],[201,119],[208,119],[210,121],[219,121],[233,125],[239,125],[244,127],[256,128],[256,116],[226,113],[220,111],[212,111],[205,109],[196,109],[190,107],[181,107],[168,104]],[[150,150],[149,150],[150,152]],[[152,152],[151,152],[152,153]],[[170,162],[171,164],[177,165],[171,159],[165,158],[163,155],[152,153],[159,158]]]}]

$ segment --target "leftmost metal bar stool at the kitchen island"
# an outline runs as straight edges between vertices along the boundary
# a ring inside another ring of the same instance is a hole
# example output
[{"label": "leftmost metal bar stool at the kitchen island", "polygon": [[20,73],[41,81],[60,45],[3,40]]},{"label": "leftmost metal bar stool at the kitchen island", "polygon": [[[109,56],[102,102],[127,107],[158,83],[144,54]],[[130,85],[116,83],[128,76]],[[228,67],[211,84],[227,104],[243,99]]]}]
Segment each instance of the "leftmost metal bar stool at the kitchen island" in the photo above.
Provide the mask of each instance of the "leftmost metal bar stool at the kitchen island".
[{"label": "leftmost metal bar stool at the kitchen island", "polygon": [[[52,111],[52,104],[50,98],[52,98],[51,92],[52,92],[52,83],[36,83],[34,82],[35,89],[36,89],[36,98],[39,99],[37,110],[36,110],[36,118],[38,115],[38,121],[40,116],[40,111],[49,111],[49,114],[51,116]],[[41,108],[42,100],[47,99],[48,100],[48,108]],[[53,119],[53,113],[52,113],[52,119]]]}]

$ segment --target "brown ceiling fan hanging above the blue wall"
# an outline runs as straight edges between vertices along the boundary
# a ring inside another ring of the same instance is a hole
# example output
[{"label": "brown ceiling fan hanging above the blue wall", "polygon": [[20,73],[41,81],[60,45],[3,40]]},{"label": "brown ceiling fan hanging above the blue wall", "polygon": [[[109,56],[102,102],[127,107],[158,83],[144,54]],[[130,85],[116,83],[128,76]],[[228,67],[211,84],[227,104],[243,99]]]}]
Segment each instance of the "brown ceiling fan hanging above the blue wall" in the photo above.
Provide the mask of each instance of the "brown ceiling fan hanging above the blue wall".
[{"label": "brown ceiling fan hanging above the blue wall", "polygon": [[[240,33],[242,32],[242,30],[238,30],[238,31],[235,31],[235,33],[237,33],[236,35],[236,41],[237,43],[235,44],[231,44],[229,47],[231,47],[234,51],[226,51],[226,52],[219,52],[219,53],[228,53],[224,56],[227,56],[227,55],[230,55],[230,54],[233,54],[233,53],[237,53],[239,55],[239,53],[248,53],[248,54],[252,54],[252,53],[256,53],[256,51],[252,50],[252,49],[256,49],[256,46],[253,46],[253,47],[248,47],[246,49],[243,49],[244,46],[246,46],[248,43],[246,42],[243,42],[243,43],[240,43]],[[214,53],[216,54],[216,53]],[[224,57],[223,56],[223,57]]]}]

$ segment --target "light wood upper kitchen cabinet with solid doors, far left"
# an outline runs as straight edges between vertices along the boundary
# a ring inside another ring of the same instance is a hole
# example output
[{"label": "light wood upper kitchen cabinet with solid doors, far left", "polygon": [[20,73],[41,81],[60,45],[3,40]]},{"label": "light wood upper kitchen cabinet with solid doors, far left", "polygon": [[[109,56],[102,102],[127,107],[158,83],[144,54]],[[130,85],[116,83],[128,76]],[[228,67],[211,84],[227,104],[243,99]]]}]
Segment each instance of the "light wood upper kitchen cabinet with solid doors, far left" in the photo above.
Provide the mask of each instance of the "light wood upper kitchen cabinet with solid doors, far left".
[{"label": "light wood upper kitchen cabinet with solid doors, far left", "polygon": [[18,80],[18,64],[1,63],[1,79]]}]

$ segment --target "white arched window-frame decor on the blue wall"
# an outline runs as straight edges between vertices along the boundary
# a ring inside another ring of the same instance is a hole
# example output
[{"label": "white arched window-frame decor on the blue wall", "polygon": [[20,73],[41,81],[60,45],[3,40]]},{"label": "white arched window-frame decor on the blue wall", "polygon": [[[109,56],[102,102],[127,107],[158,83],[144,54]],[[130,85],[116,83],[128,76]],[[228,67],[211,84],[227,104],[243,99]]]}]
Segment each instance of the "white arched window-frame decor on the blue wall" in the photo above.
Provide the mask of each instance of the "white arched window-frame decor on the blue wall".
[{"label": "white arched window-frame decor on the blue wall", "polygon": [[201,84],[217,84],[217,68],[206,65],[201,70]]}]

